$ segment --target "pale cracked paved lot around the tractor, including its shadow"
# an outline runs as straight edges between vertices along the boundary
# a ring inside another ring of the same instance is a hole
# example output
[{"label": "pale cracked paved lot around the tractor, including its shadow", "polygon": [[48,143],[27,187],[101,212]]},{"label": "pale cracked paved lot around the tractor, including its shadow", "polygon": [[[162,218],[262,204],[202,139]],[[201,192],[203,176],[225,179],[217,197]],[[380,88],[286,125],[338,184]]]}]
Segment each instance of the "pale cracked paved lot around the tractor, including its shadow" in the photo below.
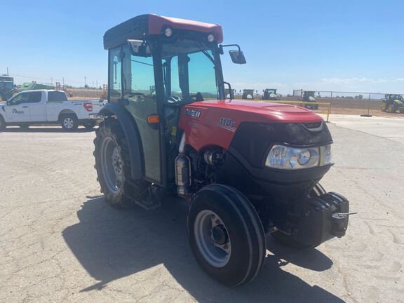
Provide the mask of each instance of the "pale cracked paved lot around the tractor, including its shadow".
[{"label": "pale cracked paved lot around the tractor, including its shadow", "polygon": [[347,236],[304,252],[268,238],[262,272],[241,288],[199,269],[183,203],[105,205],[93,132],[0,133],[0,302],[404,302],[404,142],[385,121],[335,121],[322,184],[359,212]]}]

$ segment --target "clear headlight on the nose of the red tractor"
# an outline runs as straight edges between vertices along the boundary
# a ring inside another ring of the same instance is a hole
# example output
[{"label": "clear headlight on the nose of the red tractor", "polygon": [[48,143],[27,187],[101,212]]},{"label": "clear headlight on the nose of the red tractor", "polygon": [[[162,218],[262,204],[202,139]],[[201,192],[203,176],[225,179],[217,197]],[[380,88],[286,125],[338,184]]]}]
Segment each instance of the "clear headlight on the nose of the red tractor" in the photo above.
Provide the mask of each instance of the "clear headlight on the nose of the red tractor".
[{"label": "clear headlight on the nose of the red tractor", "polygon": [[324,166],[330,163],[331,145],[307,148],[274,145],[269,151],[265,166],[280,169],[301,169]]}]

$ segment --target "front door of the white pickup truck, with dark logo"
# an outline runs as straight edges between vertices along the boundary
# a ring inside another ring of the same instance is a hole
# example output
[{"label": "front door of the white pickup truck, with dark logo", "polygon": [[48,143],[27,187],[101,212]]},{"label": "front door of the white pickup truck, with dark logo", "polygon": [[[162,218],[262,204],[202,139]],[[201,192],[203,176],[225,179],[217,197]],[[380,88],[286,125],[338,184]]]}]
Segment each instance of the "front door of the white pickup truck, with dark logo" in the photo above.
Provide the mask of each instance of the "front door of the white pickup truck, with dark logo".
[{"label": "front door of the white pickup truck, with dark logo", "polygon": [[29,112],[29,93],[19,93],[7,101],[6,121],[8,123],[29,122],[31,115]]}]

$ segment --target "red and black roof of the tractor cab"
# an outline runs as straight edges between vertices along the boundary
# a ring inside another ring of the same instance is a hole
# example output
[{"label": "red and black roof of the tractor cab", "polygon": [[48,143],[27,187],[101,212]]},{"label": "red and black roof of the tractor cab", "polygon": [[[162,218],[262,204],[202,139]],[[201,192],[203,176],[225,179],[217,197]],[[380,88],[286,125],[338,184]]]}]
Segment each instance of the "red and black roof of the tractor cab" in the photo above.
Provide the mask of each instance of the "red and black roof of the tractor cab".
[{"label": "red and black roof of the tractor cab", "polygon": [[138,15],[112,27],[112,29],[108,29],[104,34],[104,48],[114,48],[126,43],[128,39],[142,39],[144,34],[161,34],[166,27],[207,34],[212,33],[218,43],[223,41],[223,32],[220,25],[147,14]]}]

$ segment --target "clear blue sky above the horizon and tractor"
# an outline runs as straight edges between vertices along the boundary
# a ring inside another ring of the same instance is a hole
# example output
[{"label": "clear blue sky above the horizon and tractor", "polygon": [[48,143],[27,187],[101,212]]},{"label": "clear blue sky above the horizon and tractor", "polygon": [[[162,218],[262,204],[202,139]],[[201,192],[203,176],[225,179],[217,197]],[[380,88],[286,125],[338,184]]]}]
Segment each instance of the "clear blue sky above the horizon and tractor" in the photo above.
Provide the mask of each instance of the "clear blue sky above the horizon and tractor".
[{"label": "clear blue sky above the horizon and tractor", "polygon": [[0,1],[0,73],[83,86],[107,83],[107,29],[156,13],[219,23],[247,65],[225,54],[237,89],[404,93],[404,1]]}]

